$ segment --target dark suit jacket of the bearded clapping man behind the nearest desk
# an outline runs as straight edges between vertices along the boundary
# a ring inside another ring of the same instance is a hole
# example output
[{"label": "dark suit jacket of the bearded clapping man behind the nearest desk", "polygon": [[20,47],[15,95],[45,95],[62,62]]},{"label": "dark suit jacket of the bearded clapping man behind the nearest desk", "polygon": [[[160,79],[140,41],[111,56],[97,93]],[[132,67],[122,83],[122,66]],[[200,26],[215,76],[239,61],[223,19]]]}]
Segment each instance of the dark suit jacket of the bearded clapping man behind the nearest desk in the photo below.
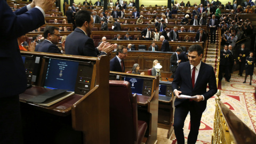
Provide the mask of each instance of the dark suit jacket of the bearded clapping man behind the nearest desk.
[{"label": "dark suit jacket of the bearded clapping man behind the nearest desk", "polygon": [[[86,36],[84,31],[79,28],[75,28],[75,30],[67,36],[65,53],[88,57],[97,57],[99,54],[98,50],[94,48],[92,38]],[[99,55],[103,54],[106,53],[101,52]]]}]

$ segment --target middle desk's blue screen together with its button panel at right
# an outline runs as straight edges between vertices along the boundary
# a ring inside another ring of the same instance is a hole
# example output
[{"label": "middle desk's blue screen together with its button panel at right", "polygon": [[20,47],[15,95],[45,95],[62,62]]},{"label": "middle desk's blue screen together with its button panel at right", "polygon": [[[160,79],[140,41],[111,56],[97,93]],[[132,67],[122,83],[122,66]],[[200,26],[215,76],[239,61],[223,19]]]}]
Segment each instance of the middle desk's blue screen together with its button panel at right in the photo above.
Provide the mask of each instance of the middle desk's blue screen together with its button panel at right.
[{"label": "middle desk's blue screen together with its button panel at right", "polygon": [[151,95],[153,81],[149,78],[122,76],[124,81],[131,84],[132,93]]}]

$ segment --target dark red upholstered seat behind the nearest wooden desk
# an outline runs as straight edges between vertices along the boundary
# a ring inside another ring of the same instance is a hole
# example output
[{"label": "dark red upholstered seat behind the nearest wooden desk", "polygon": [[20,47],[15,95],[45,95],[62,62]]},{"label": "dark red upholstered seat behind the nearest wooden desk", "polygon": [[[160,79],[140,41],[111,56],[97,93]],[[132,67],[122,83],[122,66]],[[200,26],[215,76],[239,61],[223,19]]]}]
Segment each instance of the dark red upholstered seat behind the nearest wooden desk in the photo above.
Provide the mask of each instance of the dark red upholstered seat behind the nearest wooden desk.
[{"label": "dark red upholstered seat behind the nearest wooden desk", "polygon": [[137,95],[126,81],[109,81],[110,143],[141,143],[147,123],[138,121]]}]

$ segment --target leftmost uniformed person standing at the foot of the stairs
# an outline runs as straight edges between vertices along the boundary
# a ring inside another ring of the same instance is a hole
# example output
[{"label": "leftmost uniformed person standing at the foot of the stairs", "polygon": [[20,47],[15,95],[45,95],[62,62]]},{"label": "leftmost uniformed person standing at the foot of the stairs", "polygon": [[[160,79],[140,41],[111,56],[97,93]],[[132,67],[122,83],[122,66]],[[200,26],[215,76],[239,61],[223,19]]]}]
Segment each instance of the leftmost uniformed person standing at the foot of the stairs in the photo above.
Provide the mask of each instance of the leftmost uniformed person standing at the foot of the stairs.
[{"label": "leftmost uniformed person standing at the foot of the stairs", "polygon": [[230,66],[230,51],[228,50],[228,46],[224,45],[224,50],[220,51],[220,73],[219,73],[219,81],[222,80],[222,73],[225,73],[225,77],[227,82],[230,82],[229,75],[229,66]]}]

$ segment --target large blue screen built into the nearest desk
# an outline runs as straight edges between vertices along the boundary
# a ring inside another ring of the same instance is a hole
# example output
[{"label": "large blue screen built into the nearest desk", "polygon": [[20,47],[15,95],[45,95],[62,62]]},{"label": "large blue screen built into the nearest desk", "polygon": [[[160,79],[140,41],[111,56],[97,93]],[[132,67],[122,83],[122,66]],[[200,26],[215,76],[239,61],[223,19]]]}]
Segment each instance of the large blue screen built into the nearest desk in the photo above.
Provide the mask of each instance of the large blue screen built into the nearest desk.
[{"label": "large blue screen built into the nearest desk", "polygon": [[49,59],[44,87],[75,91],[79,62]]}]

